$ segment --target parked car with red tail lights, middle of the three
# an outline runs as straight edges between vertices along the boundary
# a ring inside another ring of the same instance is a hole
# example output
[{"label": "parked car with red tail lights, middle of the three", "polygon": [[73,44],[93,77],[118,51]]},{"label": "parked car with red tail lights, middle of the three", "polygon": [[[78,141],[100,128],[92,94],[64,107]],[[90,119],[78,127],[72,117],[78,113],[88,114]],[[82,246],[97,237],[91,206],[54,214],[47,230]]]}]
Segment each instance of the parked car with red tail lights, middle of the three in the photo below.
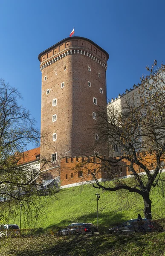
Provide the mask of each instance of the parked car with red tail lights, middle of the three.
[{"label": "parked car with red tail lights, middle of the three", "polygon": [[77,222],[68,225],[65,229],[58,232],[59,235],[68,235],[68,234],[81,234],[81,233],[94,233],[97,232],[97,227],[92,223]]}]

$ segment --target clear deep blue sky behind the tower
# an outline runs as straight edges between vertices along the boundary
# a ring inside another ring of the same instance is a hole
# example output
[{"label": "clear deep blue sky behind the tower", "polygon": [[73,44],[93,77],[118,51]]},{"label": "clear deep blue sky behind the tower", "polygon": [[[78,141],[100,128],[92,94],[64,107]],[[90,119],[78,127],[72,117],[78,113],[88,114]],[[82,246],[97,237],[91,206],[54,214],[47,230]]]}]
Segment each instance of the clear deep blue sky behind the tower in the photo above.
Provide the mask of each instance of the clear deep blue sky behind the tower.
[{"label": "clear deep blue sky behind the tower", "polygon": [[89,38],[109,55],[107,97],[139,83],[146,65],[165,63],[164,0],[0,0],[0,77],[23,96],[40,127],[38,54],[69,36]]}]

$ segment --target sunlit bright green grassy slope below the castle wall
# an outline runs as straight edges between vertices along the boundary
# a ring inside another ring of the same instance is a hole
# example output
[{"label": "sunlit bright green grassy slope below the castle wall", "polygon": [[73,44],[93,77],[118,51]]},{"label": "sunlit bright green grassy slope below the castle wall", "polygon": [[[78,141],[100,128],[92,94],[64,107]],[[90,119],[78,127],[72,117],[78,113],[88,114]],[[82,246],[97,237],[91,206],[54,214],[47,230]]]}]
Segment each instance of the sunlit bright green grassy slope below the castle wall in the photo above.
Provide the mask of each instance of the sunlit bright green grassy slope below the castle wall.
[{"label": "sunlit bright green grassy slope below the castle wall", "polygon": [[[55,196],[47,197],[42,211],[44,214],[38,220],[36,227],[49,229],[51,227],[66,226],[72,222],[92,222],[97,224],[97,201],[95,193],[100,193],[98,201],[99,225],[110,227],[124,222],[130,218],[143,215],[143,200],[139,195],[126,192],[107,192],[95,189],[92,185],[83,185],[68,189],[61,189]],[[40,200],[43,200],[40,197]],[[158,189],[151,192],[153,219],[165,217],[165,200]],[[43,200],[44,202],[44,200]],[[20,223],[20,213],[17,210],[10,223]],[[26,212],[22,208],[22,228],[34,227],[32,223],[26,224]]]}]

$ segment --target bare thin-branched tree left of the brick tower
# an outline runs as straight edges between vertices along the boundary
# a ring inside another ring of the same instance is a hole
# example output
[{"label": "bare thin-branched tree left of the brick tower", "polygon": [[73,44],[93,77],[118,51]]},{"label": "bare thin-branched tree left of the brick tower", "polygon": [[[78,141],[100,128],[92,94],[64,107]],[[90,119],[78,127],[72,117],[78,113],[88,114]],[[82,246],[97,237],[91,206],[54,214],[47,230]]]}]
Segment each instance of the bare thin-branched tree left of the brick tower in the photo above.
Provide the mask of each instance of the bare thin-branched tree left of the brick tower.
[{"label": "bare thin-branched tree left of the brick tower", "polygon": [[21,99],[18,90],[0,79],[0,199],[7,200],[3,207],[21,203],[29,215],[34,212],[38,216],[40,204],[35,194],[44,191],[41,175],[48,160],[35,165],[22,162],[28,145],[38,146],[41,136],[35,128],[35,119],[17,104],[18,99]]}]

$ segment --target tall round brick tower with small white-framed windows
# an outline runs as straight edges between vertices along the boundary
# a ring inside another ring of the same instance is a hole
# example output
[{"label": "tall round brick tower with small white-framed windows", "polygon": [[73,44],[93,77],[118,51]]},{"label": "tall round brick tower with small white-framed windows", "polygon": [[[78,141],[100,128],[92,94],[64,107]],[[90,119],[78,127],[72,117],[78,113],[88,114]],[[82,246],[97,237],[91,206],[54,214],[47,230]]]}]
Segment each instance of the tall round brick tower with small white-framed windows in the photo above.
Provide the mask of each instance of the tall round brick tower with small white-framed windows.
[{"label": "tall round brick tower with small white-framed windows", "polygon": [[93,41],[66,38],[41,52],[41,156],[92,155],[98,105],[106,106],[109,55]]}]

